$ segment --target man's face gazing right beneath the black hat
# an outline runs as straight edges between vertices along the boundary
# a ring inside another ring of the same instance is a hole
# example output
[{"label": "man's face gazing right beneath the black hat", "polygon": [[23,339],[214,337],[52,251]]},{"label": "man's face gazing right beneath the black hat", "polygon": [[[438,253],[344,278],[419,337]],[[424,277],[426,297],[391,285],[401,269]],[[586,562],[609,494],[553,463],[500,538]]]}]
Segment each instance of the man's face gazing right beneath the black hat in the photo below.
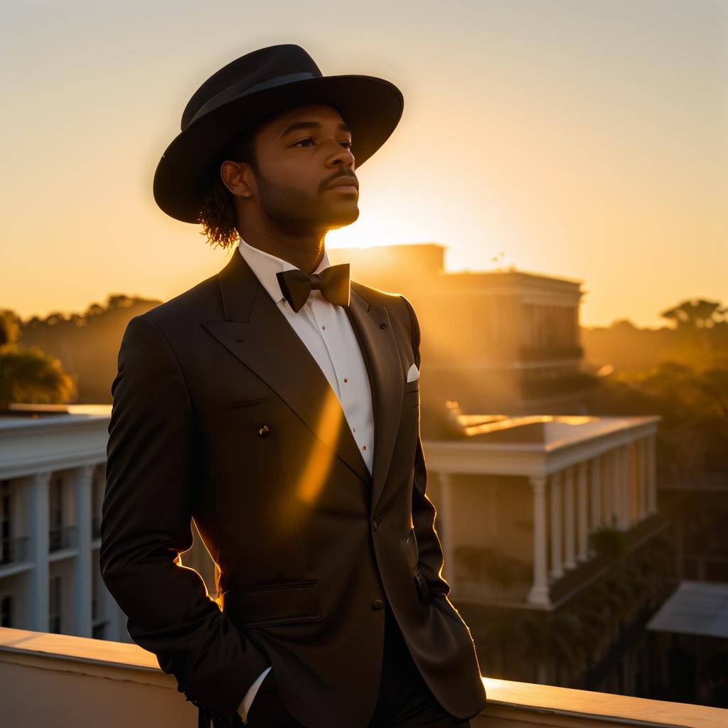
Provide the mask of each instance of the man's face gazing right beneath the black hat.
[{"label": "man's face gazing right beneath the black hat", "polygon": [[[330,230],[359,217],[352,134],[333,106],[297,106],[256,135],[258,172],[251,179],[261,212],[290,232]],[[341,178],[355,186],[331,187]]]}]

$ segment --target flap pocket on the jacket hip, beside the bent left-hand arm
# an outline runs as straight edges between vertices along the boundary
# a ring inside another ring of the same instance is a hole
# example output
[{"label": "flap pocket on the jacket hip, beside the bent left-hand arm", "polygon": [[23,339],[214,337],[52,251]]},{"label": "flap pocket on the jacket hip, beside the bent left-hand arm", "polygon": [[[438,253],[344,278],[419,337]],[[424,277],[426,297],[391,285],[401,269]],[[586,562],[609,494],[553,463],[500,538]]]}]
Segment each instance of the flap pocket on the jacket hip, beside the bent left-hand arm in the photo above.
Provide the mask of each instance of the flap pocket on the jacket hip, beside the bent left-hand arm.
[{"label": "flap pocket on the jacket hip, beside the bent left-hand arm", "polygon": [[229,589],[223,596],[223,612],[237,627],[315,622],[321,619],[318,582],[277,582]]}]

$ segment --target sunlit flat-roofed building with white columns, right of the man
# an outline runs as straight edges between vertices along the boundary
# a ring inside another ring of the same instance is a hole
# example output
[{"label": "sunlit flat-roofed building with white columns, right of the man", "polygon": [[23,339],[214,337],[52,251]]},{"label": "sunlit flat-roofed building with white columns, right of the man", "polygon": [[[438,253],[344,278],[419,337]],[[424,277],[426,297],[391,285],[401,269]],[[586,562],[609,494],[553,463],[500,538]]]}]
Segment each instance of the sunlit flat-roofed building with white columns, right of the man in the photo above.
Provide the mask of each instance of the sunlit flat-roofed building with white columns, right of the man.
[{"label": "sunlit flat-roofed building with white columns, right of the man", "polygon": [[[667,526],[659,416],[467,415],[450,404],[462,438],[423,447],[455,601],[554,609],[598,576],[591,534],[612,528],[638,545]],[[517,583],[469,577],[458,553],[488,548],[521,566]]]}]

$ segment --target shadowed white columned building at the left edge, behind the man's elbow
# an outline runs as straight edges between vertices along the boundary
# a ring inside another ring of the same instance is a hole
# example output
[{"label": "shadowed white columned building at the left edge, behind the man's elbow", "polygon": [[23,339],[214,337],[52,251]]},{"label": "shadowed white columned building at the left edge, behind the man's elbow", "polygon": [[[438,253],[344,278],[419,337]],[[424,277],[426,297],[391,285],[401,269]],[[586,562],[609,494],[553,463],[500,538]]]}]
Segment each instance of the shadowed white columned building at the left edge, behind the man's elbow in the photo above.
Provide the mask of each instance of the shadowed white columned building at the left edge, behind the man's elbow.
[{"label": "shadowed white columned building at the left edge, behind the man's elbow", "polygon": [[130,642],[98,565],[111,405],[33,410],[0,415],[0,625]]}]

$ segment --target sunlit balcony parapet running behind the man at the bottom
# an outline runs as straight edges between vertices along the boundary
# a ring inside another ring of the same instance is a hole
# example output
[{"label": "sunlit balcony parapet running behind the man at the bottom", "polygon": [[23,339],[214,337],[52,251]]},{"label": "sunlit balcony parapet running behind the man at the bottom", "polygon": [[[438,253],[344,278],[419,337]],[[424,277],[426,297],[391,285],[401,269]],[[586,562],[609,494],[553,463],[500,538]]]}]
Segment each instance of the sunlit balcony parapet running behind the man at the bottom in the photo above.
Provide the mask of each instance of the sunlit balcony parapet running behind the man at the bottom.
[{"label": "sunlit balcony parapet running behind the man at the bottom", "polygon": [[[32,669],[30,669],[32,668]],[[0,628],[3,724],[194,728],[197,708],[135,644]],[[488,703],[472,728],[725,728],[728,711],[483,678]]]}]

